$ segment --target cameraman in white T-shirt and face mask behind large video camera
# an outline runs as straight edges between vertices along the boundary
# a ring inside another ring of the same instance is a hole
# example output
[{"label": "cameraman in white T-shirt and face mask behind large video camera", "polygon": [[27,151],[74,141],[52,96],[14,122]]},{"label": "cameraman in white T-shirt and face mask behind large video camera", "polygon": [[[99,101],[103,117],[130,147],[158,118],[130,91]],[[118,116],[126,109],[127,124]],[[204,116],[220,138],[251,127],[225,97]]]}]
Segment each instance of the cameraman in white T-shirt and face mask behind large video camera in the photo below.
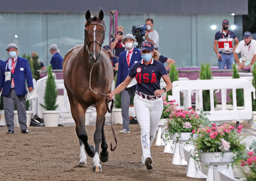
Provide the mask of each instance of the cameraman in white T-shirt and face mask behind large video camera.
[{"label": "cameraman in white T-shirt and face mask behind large video camera", "polygon": [[145,33],[145,41],[150,41],[153,45],[159,48],[159,35],[156,30],[153,30],[153,20],[148,18],[146,20],[147,30]]}]

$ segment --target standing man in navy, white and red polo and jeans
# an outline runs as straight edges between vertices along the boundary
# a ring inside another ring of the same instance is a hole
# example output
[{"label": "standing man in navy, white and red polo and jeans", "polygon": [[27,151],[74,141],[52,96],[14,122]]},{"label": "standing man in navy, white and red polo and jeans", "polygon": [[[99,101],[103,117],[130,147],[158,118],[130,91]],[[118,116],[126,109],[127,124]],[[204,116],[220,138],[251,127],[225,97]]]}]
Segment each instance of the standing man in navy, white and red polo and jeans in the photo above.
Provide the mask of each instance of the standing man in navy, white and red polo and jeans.
[{"label": "standing man in navy, white and red polo and jeans", "polygon": [[[235,33],[230,31],[228,26],[228,20],[223,20],[222,29],[216,32],[214,37],[213,49],[218,58],[219,69],[224,69],[225,66],[227,69],[232,69],[232,64],[234,62],[233,53],[239,43]],[[235,41],[234,48],[232,44],[233,40]],[[217,49],[217,44],[219,50]]]}]

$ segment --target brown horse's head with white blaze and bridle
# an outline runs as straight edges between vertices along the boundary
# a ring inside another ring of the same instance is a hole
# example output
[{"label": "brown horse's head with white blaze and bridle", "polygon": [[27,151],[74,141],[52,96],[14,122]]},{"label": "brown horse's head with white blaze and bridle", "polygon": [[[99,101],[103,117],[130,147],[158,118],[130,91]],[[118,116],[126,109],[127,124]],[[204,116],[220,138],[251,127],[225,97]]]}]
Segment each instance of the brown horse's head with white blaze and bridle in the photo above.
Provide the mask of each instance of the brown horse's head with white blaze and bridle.
[{"label": "brown horse's head with white blaze and bridle", "polygon": [[105,38],[104,14],[100,10],[98,16],[91,17],[88,10],[85,14],[84,46],[88,50],[91,63],[97,63],[100,57],[101,46]]}]

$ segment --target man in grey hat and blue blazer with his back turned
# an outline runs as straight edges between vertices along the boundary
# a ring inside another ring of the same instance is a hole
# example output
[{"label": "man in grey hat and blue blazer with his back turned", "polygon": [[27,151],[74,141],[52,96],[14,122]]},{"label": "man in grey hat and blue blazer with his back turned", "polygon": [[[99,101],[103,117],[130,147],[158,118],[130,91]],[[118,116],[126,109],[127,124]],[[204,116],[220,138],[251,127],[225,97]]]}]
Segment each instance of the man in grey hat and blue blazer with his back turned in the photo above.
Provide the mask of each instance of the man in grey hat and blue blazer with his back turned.
[{"label": "man in grey hat and blue blazer with his back turned", "polygon": [[58,49],[58,46],[56,44],[52,44],[49,49],[50,49],[51,54],[53,54],[53,57],[50,62],[53,69],[62,69],[63,58],[58,53],[58,51],[60,51]]}]

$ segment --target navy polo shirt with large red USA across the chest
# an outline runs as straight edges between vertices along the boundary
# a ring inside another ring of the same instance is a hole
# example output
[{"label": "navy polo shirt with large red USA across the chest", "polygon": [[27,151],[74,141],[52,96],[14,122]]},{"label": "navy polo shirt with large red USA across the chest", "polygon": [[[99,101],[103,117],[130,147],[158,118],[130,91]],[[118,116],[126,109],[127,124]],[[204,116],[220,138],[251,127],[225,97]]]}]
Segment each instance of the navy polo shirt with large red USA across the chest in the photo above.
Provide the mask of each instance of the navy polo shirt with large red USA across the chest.
[{"label": "navy polo shirt with large red USA across the chest", "polygon": [[136,90],[149,96],[154,96],[155,90],[161,89],[160,79],[163,76],[168,76],[164,64],[154,59],[148,66],[143,63],[143,60],[135,63],[128,74],[130,78],[136,77]]}]

